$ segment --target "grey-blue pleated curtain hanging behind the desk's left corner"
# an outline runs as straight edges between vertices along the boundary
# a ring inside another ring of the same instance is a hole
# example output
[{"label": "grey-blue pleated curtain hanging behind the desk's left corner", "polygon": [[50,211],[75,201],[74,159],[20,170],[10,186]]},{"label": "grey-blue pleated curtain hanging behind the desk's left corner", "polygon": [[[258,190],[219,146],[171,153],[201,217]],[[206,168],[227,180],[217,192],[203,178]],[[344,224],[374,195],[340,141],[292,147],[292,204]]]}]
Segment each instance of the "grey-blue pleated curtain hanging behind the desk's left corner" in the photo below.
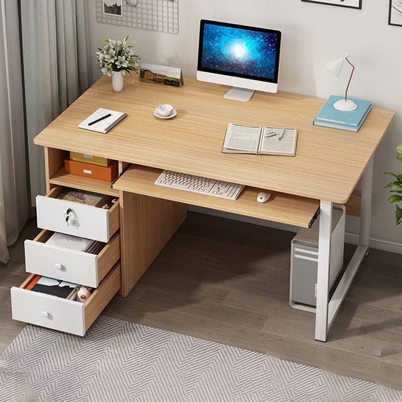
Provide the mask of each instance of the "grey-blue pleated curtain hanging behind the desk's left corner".
[{"label": "grey-blue pleated curtain hanging behind the desk's left corner", "polygon": [[45,193],[43,148],[33,139],[91,82],[87,20],[86,0],[21,0],[33,205]]}]

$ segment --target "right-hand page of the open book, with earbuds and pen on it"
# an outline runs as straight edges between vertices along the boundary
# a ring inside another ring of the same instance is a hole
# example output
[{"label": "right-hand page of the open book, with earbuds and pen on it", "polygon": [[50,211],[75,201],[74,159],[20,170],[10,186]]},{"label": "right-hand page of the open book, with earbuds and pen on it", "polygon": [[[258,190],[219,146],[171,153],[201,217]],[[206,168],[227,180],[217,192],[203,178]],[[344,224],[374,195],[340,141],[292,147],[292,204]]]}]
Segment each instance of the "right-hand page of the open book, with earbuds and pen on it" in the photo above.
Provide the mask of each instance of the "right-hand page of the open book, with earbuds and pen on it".
[{"label": "right-hand page of the open book, with earbuds and pen on it", "polygon": [[[275,136],[267,137],[274,132]],[[297,131],[285,129],[282,139],[279,140],[281,128],[264,127],[261,141],[261,153],[275,155],[294,155],[296,151]]]}]

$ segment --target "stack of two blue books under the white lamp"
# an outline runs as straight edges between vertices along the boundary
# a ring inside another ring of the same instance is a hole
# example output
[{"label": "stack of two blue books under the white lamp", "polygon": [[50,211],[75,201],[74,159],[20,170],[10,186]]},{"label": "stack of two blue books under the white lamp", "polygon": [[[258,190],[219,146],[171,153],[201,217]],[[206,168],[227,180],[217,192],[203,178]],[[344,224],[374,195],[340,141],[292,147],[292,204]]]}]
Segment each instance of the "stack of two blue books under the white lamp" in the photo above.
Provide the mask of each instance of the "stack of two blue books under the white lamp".
[{"label": "stack of two blue books under the white lamp", "polygon": [[344,99],[344,97],[331,95],[314,119],[313,124],[357,133],[370,113],[371,102],[350,98],[357,105],[357,108],[354,111],[343,112],[334,108],[334,103],[339,99]]}]

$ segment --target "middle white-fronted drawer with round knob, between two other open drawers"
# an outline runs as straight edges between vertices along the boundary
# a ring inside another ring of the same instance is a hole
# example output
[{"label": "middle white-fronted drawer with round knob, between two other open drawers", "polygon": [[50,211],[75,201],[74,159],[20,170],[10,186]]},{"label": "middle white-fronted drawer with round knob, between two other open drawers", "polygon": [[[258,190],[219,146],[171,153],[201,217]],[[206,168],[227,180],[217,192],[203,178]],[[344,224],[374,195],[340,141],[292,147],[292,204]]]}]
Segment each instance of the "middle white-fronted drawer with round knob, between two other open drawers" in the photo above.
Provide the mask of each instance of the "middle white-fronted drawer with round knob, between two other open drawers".
[{"label": "middle white-fronted drawer with round knob, between two other open drawers", "polygon": [[34,240],[25,240],[27,272],[97,287],[120,260],[120,233],[114,234],[98,255],[46,244],[53,232],[43,230]]}]

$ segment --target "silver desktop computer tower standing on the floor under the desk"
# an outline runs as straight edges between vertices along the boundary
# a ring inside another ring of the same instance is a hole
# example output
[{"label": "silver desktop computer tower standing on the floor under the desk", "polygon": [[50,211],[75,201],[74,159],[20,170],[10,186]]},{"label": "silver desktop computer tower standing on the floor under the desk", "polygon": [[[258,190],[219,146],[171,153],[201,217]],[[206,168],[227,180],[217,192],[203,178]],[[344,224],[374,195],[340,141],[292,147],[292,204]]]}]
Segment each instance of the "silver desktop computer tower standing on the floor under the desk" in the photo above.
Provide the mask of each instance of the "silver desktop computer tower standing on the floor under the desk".
[{"label": "silver desktop computer tower standing on the floor under the desk", "polygon": [[[343,205],[334,206],[330,288],[343,268],[345,215]],[[311,229],[300,229],[291,241],[289,304],[294,309],[316,311],[319,220],[320,216]]]}]

